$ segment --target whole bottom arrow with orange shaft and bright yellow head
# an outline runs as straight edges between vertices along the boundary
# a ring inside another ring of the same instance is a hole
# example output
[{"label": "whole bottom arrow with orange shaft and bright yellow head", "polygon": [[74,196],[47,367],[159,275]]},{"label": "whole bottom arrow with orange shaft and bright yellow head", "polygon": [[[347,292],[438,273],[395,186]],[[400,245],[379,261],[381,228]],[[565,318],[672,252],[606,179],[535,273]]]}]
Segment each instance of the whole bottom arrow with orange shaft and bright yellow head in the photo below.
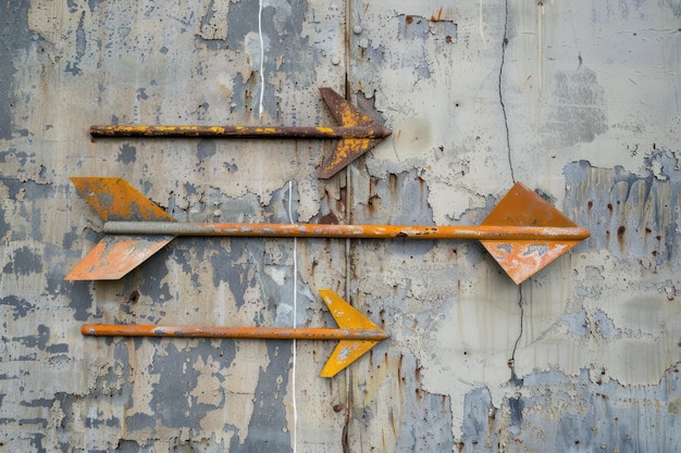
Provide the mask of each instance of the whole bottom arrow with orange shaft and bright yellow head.
[{"label": "whole bottom arrow with orange shaft and bright yellow head", "polygon": [[389,338],[383,329],[359,313],[330,289],[319,291],[338,324],[332,328],[215,327],[215,326],[148,326],[148,325],[85,325],[83,335],[95,337],[181,337],[270,340],[339,340],[320,373],[334,377],[381,341]]}]

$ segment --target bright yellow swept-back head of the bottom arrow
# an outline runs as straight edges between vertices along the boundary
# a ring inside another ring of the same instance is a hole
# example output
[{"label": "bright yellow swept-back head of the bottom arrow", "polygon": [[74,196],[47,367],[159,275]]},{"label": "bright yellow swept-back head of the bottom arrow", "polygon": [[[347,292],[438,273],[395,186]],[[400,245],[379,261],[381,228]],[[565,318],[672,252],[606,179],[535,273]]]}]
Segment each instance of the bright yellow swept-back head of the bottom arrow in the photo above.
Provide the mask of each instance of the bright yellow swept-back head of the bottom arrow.
[{"label": "bright yellow swept-back head of the bottom arrow", "polygon": [[[340,328],[376,330],[383,332],[367,316],[355,310],[349,303],[330,289],[319,291]],[[387,336],[386,336],[387,337]],[[334,377],[340,370],[379,344],[381,340],[340,340],[320,373],[321,377]]]}]

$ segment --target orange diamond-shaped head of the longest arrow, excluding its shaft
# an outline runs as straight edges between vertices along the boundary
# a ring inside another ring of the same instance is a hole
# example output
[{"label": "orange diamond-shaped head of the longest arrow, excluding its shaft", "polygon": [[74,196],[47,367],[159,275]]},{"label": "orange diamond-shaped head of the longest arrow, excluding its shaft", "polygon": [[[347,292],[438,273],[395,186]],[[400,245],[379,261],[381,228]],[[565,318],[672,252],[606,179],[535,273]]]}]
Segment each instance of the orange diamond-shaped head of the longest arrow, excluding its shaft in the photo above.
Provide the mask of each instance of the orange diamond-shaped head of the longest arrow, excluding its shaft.
[{"label": "orange diamond-shaped head of the longest arrow, excluding its shaft", "polygon": [[[481,225],[579,228],[560,211],[521,183],[516,183]],[[494,260],[518,285],[579,242],[578,240],[481,241]]]}]

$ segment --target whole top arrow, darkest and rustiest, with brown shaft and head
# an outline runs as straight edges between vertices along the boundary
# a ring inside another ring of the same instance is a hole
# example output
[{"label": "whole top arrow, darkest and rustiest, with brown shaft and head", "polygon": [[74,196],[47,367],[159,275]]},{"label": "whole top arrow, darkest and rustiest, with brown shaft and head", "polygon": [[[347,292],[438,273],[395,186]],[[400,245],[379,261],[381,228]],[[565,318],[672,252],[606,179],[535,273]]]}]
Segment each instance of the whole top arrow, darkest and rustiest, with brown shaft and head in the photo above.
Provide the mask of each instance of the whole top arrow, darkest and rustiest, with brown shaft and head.
[{"label": "whole top arrow, darkest and rustiest, with brown shaft and head", "polygon": [[346,101],[331,88],[320,88],[329,110],[340,126],[90,126],[92,137],[214,137],[340,139],[319,174],[330,178],[375,147],[391,130]]}]

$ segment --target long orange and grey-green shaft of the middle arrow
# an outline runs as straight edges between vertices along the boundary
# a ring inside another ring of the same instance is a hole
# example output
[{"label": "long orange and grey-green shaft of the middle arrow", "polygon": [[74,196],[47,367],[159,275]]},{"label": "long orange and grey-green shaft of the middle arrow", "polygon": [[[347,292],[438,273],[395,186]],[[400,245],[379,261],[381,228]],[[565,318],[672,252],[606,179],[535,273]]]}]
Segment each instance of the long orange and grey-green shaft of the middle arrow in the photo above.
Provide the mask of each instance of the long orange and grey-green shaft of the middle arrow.
[{"label": "long orange and grey-green shaft of the middle arrow", "polygon": [[109,235],[230,236],[357,239],[476,239],[577,241],[589,237],[580,227],[428,226],[331,224],[195,224],[175,222],[107,222]]}]

